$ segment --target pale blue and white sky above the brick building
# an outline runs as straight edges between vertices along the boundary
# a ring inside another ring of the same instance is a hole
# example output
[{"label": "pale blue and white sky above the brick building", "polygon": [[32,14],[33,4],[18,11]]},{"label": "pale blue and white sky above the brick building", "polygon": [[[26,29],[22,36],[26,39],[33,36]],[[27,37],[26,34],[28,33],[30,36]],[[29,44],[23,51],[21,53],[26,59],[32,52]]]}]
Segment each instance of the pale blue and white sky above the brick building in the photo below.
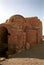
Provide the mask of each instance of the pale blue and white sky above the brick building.
[{"label": "pale blue and white sky above the brick building", "polygon": [[44,34],[44,0],[0,0],[0,23],[14,14],[38,16],[42,21]]}]

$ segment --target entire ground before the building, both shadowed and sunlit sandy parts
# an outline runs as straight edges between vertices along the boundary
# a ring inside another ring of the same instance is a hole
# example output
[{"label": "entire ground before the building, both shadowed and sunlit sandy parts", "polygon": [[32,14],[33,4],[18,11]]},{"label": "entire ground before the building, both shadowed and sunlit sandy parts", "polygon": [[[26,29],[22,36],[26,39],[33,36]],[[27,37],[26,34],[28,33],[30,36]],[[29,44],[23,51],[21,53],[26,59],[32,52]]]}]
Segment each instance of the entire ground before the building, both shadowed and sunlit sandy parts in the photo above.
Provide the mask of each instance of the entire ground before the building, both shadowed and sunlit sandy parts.
[{"label": "entire ground before the building, both shadowed and sunlit sandy parts", "polygon": [[0,65],[44,65],[44,42],[29,51],[16,53],[11,58],[0,61]]}]

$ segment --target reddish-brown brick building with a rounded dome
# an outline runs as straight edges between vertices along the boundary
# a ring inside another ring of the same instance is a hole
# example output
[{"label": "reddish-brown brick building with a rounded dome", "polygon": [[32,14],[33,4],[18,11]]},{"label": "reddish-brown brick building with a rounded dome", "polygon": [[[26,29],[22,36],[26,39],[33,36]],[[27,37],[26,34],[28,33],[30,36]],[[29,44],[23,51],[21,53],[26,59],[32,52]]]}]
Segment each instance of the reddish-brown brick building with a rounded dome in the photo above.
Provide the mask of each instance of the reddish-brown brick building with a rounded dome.
[{"label": "reddish-brown brick building with a rounded dome", "polygon": [[[7,28],[10,35],[8,44],[12,53],[30,46],[39,44],[42,41],[42,22],[38,17],[25,18],[21,15],[13,15],[5,23],[0,24]],[[13,49],[14,48],[14,49]]]}]

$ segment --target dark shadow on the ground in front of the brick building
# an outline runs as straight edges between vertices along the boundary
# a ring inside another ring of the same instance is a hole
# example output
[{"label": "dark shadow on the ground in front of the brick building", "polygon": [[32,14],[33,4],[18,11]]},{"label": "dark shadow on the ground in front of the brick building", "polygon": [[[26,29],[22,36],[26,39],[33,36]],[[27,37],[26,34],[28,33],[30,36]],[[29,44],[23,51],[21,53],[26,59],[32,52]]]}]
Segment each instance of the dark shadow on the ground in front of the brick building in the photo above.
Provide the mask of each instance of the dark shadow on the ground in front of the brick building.
[{"label": "dark shadow on the ground in front of the brick building", "polygon": [[21,53],[16,53],[12,58],[39,58],[44,59],[44,42],[43,44],[36,45],[34,48],[29,51],[24,51]]}]

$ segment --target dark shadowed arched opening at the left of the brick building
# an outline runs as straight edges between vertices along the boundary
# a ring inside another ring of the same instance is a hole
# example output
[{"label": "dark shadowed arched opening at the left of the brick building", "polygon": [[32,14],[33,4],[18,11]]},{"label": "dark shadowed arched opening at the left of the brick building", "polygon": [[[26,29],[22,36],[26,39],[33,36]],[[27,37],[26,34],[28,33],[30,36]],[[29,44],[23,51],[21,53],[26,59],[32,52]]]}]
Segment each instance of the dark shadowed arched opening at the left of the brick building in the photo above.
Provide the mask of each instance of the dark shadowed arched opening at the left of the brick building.
[{"label": "dark shadowed arched opening at the left of the brick building", "polygon": [[8,51],[8,30],[4,26],[0,26],[0,57],[7,57]]}]

